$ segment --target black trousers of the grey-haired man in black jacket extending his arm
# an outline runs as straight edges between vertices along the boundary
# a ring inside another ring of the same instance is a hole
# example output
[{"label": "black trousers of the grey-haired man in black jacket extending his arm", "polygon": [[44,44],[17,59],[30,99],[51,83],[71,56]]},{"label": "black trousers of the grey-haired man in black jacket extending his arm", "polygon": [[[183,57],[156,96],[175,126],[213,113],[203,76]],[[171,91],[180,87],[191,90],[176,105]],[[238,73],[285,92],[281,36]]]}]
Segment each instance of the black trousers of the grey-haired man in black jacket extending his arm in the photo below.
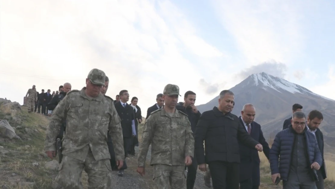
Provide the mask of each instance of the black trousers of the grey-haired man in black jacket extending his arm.
[{"label": "black trousers of the grey-haired man in black jacket extending his arm", "polygon": [[239,189],[240,164],[226,161],[208,163],[213,189]]}]

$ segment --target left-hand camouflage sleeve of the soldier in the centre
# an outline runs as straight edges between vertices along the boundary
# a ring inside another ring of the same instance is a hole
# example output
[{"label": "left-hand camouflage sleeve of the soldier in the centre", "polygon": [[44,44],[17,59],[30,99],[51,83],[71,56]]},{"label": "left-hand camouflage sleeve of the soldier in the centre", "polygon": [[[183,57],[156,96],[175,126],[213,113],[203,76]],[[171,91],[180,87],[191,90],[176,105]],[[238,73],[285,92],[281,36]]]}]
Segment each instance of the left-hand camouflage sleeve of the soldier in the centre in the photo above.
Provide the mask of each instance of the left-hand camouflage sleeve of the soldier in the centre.
[{"label": "left-hand camouflage sleeve of the soldier in the centre", "polygon": [[148,119],[144,122],[142,139],[138,148],[137,167],[145,167],[146,156],[153,138],[154,126],[155,120],[152,115],[149,115]]}]

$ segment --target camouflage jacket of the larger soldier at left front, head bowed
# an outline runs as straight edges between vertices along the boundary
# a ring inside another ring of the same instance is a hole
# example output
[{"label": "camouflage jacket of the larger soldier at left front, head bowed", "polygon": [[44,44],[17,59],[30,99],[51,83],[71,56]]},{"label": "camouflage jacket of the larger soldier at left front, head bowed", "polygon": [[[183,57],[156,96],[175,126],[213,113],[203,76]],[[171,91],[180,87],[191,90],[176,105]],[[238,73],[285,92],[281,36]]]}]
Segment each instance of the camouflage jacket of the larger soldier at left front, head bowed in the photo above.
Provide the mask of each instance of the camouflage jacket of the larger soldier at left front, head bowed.
[{"label": "camouflage jacket of the larger soldier at left front, head bowed", "polygon": [[52,112],[47,129],[45,151],[55,151],[55,140],[66,119],[63,155],[84,161],[91,149],[94,159],[110,159],[107,132],[113,138],[116,160],[124,159],[121,120],[114,104],[101,93],[88,97],[85,88],[67,93]]}]

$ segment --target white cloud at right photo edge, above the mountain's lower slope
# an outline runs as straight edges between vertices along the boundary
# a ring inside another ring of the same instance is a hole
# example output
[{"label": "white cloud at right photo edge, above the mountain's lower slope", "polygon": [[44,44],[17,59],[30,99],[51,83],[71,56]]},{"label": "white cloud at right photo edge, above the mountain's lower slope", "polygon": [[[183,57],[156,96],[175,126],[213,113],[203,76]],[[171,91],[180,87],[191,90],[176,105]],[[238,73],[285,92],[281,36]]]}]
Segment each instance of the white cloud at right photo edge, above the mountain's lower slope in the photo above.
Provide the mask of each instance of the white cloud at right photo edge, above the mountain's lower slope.
[{"label": "white cloud at right photo edge, above the mountain's lower slope", "polygon": [[329,65],[327,73],[328,82],[317,85],[311,89],[316,94],[335,100],[335,66]]}]

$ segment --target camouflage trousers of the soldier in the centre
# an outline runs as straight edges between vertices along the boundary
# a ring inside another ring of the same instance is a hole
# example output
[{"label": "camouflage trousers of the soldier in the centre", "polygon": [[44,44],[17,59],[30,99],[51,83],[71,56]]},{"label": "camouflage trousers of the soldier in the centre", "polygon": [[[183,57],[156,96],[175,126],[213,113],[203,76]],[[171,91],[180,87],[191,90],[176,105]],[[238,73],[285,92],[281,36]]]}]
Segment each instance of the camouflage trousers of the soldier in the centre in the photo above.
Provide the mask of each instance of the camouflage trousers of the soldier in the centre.
[{"label": "camouflage trousers of the soldier in the centre", "polygon": [[153,165],[154,189],[185,189],[185,166]]}]

